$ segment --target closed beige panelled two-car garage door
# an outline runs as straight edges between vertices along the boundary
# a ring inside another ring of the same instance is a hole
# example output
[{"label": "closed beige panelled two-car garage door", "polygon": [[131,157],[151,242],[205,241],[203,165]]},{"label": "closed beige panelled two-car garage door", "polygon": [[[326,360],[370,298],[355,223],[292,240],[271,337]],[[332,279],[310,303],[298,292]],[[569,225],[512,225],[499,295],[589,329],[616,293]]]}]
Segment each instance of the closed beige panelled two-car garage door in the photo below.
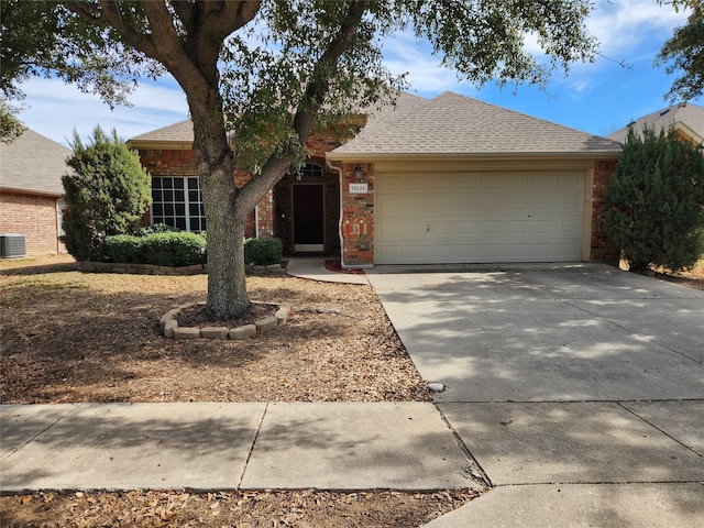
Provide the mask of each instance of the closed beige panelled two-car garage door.
[{"label": "closed beige panelled two-car garage door", "polygon": [[381,173],[374,262],[582,260],[584,172]]}]

